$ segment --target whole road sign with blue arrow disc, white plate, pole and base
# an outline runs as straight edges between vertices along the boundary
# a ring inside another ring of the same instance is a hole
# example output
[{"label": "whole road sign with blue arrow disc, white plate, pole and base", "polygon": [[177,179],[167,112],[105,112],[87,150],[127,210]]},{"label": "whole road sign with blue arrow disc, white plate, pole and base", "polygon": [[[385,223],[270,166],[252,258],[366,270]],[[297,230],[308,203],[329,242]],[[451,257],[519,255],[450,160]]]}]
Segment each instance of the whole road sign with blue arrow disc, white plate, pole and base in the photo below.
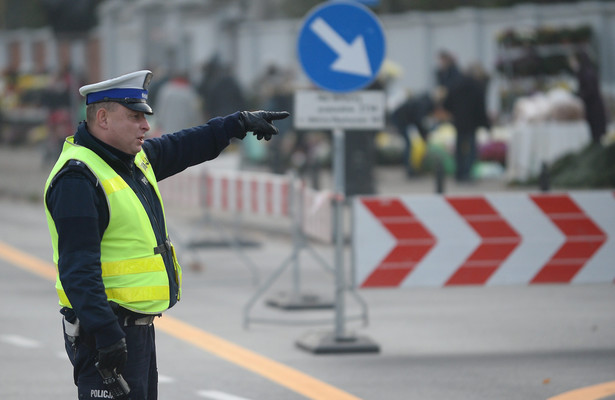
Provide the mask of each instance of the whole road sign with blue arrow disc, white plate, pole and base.
[{"label": "whole road sign with blue arrow disc, white plate, pole and base", "polygon": [[[316,86],[329,92],[302,91],[295,95],[295,126],[333,131],[335,228],[335,330],[312,333],[297,346],[312,353],[379,352],[366,337],[345,331],[344,129],[381,129],[384,94],[360,91],[373,82],[385,57],[384,31],[378,18],[357,2],[324,2],[306,16],[297,40],[303,71]],[[331,93],[334,92],[334,93]]]}]

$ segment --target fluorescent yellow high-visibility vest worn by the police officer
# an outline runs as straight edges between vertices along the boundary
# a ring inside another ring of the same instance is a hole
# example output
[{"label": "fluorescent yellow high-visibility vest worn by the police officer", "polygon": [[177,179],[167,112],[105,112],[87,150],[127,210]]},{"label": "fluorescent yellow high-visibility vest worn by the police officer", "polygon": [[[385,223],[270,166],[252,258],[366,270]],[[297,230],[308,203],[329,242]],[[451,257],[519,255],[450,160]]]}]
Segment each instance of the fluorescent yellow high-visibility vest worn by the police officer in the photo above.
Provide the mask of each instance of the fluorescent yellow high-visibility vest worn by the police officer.
[{"label": "fluorescent yellow high-visibility vest worn by the police officer", "polygon": [[[62,153],[45,184],[45,196],[55,175],[69,160],[83,162],[104,189],[109,206],[109,225],[100,243],[102,280],[107,299],[142,314],[158,314],[169,308],[169,279],[161,254],[155,254],[156,235],[147,212],[130,186],[102,158],[87,147],[67,138]],[[162,205],[156,177],[144,151],[135,156],[135,164],[156,191]],[[53,260],[58,266],[58,233],[45,204],[47,223],[53,245]],[[164,207],[163,207],[164,213]],[[166,227],[165,227],[166,229]],[[165,232],[166,234],[166,232]],[[181,294],[182,272],[171,245],[175,279]],[[60,305],[71,307],[62,288],[60,275],[56,278]]]}]

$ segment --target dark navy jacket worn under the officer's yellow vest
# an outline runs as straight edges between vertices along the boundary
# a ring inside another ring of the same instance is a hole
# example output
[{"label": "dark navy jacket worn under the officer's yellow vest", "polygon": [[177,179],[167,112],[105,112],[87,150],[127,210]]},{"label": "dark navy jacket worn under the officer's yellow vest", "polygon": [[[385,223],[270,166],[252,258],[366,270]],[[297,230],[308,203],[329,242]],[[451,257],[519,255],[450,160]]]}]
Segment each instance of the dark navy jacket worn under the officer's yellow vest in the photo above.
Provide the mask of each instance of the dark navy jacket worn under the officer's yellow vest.
[{"label": "dark navy jacket worn under the officer's yellow vest", "polygon": [[[244,132],[239,113],[214,118],[205,125],[147,139],[143,150],[161,181],[189,166],[216,158],[232,137]],[[162,206],[152,186],[136,168],[134,156],[123,153],[92,136],[85,122],[75,133],[75,143],[93,150],[105,160],[134,190],[150,217],[158,244],[163,244],[165,220]],[[47,207],[58,231],[58,269],[60,281],[68,295],[72,310],[63,310],[78,317],[85,332],[96,339],[96,347],[109,346],[124,333],[117,316],[107,302],[100,267],[100,242],[109,223],[109,212],[103,189],[87,167],[69,162],[54,178],[46,197]],[[165,254],[169,274],[170,304],[177,302],[178,287],[173,261]]]}]

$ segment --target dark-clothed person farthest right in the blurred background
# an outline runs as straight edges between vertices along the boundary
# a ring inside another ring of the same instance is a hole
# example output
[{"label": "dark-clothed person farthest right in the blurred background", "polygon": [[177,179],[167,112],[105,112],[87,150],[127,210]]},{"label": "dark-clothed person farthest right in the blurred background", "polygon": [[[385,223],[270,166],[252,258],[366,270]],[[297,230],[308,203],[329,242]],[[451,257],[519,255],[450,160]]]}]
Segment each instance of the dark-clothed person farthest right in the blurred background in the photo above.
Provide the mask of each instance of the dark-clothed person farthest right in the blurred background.
[{"label": "dark-clothed person farthest right in the blurred background", "polygon": [[585,50],[569,57],[569,64],[578,83],[577,95],[585,106],[585,120],[589,124],[592,143],[600,144],[606,133],[606,108],[600,93],[598,68]]}]

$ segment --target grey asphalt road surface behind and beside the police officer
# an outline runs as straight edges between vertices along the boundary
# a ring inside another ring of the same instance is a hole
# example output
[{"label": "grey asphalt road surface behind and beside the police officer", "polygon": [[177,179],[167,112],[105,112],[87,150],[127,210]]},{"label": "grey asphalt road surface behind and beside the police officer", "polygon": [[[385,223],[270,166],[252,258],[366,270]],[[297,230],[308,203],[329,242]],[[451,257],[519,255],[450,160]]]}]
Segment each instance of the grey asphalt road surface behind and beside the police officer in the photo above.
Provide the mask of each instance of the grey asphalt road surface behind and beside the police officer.
[{"label": "grey asphalt road surface behind and beside the police officer", "polygon": [[[170,220],[176,230],[219,237],[202,222]],[[262,278],[291,254],[284,236],[248,235],[255,245],[244,252]],[[0,199],[3,400],[75,397],[50,247],[39,203]],[[332,259],[331,248],[315,250]],[[613,285],[360,291],[369,324],[350,320],[345,332],[368,337],[381,351],[314,355],[296,341],[333,332],[332,323],[310,321],[334,313],[282,311],[262,301],[290,291],[290,273],[259,300],[245,329],[244,307],[256,289],[242,259],[223,246],[186,256],[201,269],[186,268],[182,301],[168,312],[172,318],[156,322],[161,399],[528,400],[615,380]],[[333,295],[331,277],[312,258],[301,255],[301,271],[303,290]],[[348,315],[361,311],[346,299]],[[608,398],[615,389],[599,393],[579,399]]]}]

